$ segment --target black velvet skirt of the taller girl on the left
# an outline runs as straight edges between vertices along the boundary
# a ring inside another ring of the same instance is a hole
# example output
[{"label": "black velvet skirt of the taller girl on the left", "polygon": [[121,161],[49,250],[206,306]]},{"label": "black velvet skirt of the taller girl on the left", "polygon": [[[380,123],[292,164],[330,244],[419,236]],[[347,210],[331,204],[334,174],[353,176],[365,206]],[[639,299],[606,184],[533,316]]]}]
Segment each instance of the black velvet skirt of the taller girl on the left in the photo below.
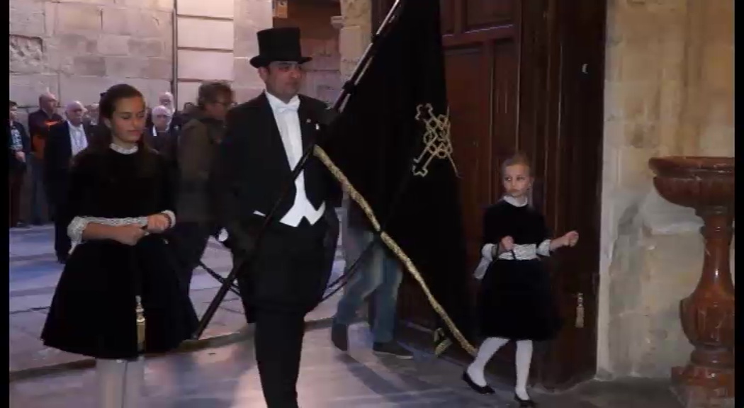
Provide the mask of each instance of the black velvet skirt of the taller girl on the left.
[{"label": "black velvet skirt of the taller girl on the left", "polygon": [[137,294],[146,320],[144,353],[167,352],[190,338],[198,320],[171,251],[158,235],[134,247],[110,240],[77,246],[54,292],[45,346],[96,358],[137,357]]}]

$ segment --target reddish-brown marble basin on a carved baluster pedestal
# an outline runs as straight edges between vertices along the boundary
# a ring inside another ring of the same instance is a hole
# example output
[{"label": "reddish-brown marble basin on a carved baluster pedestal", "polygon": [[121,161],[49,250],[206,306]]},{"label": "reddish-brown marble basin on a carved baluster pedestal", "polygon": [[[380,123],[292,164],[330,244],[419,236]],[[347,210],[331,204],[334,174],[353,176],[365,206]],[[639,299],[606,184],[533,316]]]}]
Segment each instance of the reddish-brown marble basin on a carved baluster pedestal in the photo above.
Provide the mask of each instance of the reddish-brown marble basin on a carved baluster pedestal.
[{"label": "reddish-brown marble basin on a carved baluster pedestal", "polygon": [[695,350],[687,366],[672,369],[673,386],[686,408],[719,407],[734,398],[734,158],[652,158],[649,165],[659,194],[705,221],[702,275],[679,307]]}]

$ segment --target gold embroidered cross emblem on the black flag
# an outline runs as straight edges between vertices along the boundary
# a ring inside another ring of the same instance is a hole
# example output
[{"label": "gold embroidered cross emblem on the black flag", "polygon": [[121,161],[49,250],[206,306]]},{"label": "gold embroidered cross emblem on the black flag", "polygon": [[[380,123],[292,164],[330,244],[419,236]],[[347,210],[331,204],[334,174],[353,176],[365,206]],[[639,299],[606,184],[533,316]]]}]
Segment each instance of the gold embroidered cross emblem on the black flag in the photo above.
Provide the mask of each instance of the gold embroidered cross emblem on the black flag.
[{"label": "gold embroidered cross emblem on the black flag", "polygon": [[423,134],[423,152],[414,158],[414,175],[426,177],[429,174],[429,163],[434,158],[448,159],[455,175],[458,175],[458,168],[452,159],[452,140],[449,138],[449,108],[446,114],[436,115],[431,103],[419,105],[416,107],[416,120],[423,123],[426,132]]}]

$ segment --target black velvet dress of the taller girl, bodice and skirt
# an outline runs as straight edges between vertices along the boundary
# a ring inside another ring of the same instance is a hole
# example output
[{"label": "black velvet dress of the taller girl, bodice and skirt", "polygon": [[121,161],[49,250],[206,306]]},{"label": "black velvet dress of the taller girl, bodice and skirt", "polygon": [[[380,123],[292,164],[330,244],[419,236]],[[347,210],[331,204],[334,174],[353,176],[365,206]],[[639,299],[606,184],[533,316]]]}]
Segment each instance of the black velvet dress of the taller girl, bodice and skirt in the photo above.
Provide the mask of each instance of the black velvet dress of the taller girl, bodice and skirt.
[{"label": "black velvet dress of the taller girl, bodice and skirt", "polygon": [[[71,168],[69,224],[74,217],[135,218],[173,210],[167,163],[156,152],[83,152]],[[143,163],[150,163],[143,166]],[[177,217],[176,217],[177,219]],[[179,285],[172,248],[161,234],[135,246],[91,240],[74,248],[42,331],[44,344],[96,358],[137,357],[136,295],[144,308],[144,353],[176,348],[196,328]]]}]

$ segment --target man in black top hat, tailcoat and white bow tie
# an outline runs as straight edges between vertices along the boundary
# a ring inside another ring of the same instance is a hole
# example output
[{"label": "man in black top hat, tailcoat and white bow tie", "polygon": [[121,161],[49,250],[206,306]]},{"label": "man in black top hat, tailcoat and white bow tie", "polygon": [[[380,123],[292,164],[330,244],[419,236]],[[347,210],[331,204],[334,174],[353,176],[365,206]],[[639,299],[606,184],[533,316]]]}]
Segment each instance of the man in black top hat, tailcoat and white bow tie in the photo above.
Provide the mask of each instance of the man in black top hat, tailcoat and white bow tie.
[{"label": "man in black top hat, tailcoat and white bow tie", "polygon": [[[211,174],[214,212],[228,232],[234,264],[257,251],[238,286],[248,323],[255,323],[258,371],[268,408],[297,408],[296,383],[304,317],[320,302],[336,252],[341,190],[310,156],[276,217],[255,247],[258,231],[289,183],[292,169],[320,135],[326,104],[298,94],[304,71],[300,30],[257,33],[251,59],[266,91],[228,112]],[[245,264],[243,264],[245,265]],[[245,269],[245,268],[244,268]]]}]

